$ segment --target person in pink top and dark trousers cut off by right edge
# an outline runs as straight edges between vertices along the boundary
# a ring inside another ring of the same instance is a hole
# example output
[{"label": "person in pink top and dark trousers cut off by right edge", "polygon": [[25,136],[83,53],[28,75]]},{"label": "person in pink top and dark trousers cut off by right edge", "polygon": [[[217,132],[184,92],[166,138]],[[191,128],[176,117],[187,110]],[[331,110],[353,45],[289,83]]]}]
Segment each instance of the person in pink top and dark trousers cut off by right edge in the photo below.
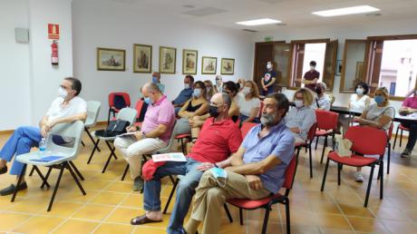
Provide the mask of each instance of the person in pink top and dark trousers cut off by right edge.
[{"label": "person in pink top and dark trousers cut off by right edge", "polygon": [[[417,90],[414,90],[412,96],[406,98],[402,102],[402,107],[400,108],[401,113],[409,114],[417,112]],[[408,135],[408,142],[405,146],[405,150],[402,152],[402,158],[409,158],[414,149],[415,142],[417,141],[417,123],[415,122],[402,122],[402,126],[410,130]]]}]

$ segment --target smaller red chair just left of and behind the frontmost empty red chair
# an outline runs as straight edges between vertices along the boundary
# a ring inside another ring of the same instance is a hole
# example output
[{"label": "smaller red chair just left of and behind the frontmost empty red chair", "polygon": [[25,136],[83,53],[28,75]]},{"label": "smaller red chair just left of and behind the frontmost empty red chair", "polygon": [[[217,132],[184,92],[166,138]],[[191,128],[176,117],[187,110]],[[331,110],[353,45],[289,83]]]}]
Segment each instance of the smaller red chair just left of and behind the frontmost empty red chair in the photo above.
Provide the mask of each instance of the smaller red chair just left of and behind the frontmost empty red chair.
[{"label": "smaller red chair just left of and behind the frontmost empty red chair", "polygon": [[320,163],[323,163],[323,158],[325,157],[325,148],[327,147],[327,137],[332,136],[332,139],[335,139],[335,132],[337,130],[339,113],[315,110],[315,118],[317,122],[317,131],[315,131],[315,150],[317,150],[318,138],[323,136],[325,137],[322,158],[320,160]]}]

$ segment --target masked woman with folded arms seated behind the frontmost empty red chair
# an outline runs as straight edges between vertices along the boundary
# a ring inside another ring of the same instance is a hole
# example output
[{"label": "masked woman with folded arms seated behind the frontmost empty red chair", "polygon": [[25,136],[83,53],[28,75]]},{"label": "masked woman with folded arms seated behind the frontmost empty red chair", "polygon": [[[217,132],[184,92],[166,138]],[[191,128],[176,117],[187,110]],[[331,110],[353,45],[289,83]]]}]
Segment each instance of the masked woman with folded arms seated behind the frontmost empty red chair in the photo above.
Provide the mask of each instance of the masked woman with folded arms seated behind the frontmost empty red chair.
[{"label": "masked woman with folded arms seated behind the frontmost empty red chair", "polygon": [[[388,131],[395,113],[395,109],[390,105],[390,101],[388,100],[389,96],[390,94],[385,87],[376,89],[374,97],[376,103],[369,105],[361,116],[354,117],[354,120],[359,122],[360,125],[367,125],[383,131]],[[364,176],[361,172],[362,168],[356,169],[357,171],[354,173],[354,179],[357,182],[364,181]]]}]

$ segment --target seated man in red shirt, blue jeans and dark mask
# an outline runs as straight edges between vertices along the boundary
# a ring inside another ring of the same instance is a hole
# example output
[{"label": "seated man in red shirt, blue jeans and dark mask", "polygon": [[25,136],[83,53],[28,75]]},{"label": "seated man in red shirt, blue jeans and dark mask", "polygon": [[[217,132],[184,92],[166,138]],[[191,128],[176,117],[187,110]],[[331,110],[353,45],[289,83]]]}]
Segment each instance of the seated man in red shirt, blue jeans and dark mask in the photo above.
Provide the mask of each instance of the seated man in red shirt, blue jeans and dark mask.
[{"label": "seated man in red shirt, blue jeans and dark mask", "polygon": [[167,161],[155,171],[152,180],[145,181],[143,204],[146,213],[131,219],[132,225],[161,221],[160,179],[168,175],[185,175],[179,180],[177,198],[167,229],[168,233],[183,233],[182,223],[189,211],[195,188],[199,185],[199,178],[209,168],[228,164],[228,156],[238,151],[242,141],[238,125],[228,116],[230,103],[226,93],[213,95],[209,109],[212,117],[204,123],[187,162]]}]

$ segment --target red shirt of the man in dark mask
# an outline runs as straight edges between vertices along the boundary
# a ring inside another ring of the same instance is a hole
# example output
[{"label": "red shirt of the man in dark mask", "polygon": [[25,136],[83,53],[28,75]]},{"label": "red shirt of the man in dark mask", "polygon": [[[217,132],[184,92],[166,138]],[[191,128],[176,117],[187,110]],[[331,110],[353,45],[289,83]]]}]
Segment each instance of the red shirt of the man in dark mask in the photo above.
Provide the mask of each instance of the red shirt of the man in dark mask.
[{"label": "red shirt of the man in dark mask", "polygon": [[189,152],[191,159],[215,163],[228,159],[230,154],[238,151],[242,142],[238,124],[231,119],[213,121],[214,118],[209,118],[204,122],[199,132],[199,139]]}]

